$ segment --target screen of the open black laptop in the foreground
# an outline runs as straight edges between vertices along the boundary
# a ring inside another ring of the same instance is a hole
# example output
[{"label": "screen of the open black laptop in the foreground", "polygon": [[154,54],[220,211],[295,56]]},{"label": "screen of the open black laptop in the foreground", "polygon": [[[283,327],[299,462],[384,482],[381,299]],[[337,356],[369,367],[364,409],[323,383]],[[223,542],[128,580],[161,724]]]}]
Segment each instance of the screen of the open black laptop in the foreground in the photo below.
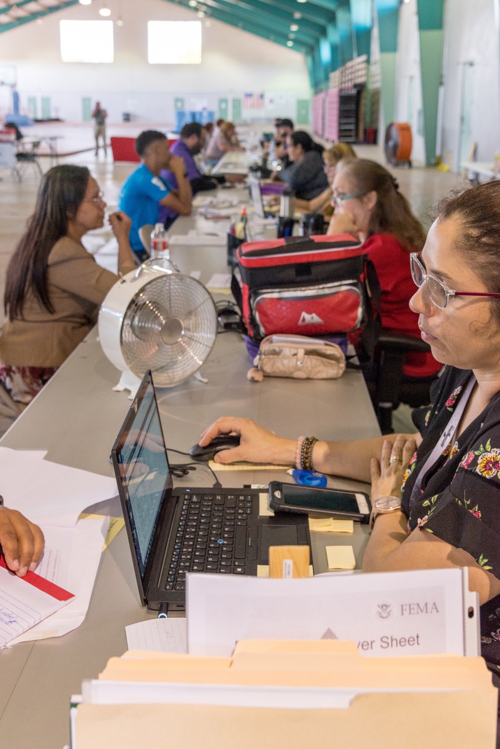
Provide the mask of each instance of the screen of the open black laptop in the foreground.
[{"label": "screen of the open black laptop in the foreground", "polygon": [[170,469],[150,372],[144,375],[114,450],[135,556],[144,580]]}]

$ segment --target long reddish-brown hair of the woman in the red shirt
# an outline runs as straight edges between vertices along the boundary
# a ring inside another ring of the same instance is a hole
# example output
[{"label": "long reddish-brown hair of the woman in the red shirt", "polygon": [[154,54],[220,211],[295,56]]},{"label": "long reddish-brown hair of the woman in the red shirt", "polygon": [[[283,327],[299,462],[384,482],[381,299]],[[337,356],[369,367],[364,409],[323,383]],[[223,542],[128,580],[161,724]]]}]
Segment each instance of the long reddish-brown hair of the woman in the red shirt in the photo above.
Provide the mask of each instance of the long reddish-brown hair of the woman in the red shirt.
[{"label": "long reddish-brown hair of the woman in the red shirt", "polygon": [[368,234],[392,234],[407,252],[419,252],[423,248],[426,240],[424,227],[413,215],[391,172],[368,159],[343,160],[338,168],[347,176],[353,192],[364,195],[376,192]]}]

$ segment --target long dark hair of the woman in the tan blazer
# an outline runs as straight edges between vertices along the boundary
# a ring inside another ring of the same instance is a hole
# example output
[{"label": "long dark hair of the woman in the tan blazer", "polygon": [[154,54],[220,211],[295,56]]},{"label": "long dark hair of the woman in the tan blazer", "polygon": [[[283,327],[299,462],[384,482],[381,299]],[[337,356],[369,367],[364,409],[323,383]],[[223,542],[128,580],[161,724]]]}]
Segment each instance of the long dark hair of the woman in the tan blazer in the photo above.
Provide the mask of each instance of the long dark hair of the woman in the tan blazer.
[{"label": "long dark hair of the woman in the tan blazer", "polygon": [[86,166],[63,164],[43,175],[28,230],[7,267],[4,310],[9,320],[22,318],[26,294],[34,291],[47,312],[54,312],[47,287],[47,262],[52,247],[67,234],[68,219],[76,216],[91,173]]}]

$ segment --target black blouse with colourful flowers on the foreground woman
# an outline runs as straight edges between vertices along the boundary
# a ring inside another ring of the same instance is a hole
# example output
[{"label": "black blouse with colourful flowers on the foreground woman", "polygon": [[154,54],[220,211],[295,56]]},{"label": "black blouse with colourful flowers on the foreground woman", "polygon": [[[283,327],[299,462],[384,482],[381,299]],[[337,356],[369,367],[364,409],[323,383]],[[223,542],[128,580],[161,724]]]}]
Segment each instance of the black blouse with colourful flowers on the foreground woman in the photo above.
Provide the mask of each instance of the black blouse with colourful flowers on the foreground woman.
[{"label": "black blouse with colourful flowers on the foreground woman", "polygon": [[[432,405],[412,412],[422,442],[406,470],[401,493],[409,531],[416,527],[469,554],[500,579],[500,392],[423,476],[418,472],[445,430],[472,372],[446,367],[430,390]],[[500,595],[481,606],[481,655],[500,675]]]}]

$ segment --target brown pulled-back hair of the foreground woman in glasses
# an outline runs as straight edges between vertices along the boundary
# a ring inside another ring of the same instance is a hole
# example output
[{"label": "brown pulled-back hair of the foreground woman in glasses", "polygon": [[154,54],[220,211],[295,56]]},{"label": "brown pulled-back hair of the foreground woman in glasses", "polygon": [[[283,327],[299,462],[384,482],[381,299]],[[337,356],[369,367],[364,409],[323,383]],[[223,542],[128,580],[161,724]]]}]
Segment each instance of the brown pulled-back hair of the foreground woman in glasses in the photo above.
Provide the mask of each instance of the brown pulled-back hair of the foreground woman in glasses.
[{"label": "brown pulled-back hair of the foreground woman in glasses", "polygon": [[[436,218],[460,221],[456,247],[465,255],[488,291],[500,292],[500,182],[484,182],[463,192],[451,192],[437,207]],[[500,324],[500,300],[490,299],[493,318]]]}]

